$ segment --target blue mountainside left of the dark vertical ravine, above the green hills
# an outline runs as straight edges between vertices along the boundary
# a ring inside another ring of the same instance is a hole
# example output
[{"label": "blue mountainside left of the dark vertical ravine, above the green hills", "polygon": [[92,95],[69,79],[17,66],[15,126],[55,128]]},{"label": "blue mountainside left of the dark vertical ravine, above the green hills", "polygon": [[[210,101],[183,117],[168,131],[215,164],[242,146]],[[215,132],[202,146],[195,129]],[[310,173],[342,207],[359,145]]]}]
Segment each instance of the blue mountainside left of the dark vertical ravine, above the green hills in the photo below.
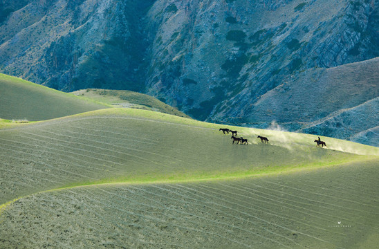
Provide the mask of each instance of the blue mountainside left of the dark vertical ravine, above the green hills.
[{"label": "blue mountainside left of the dark vertical ravine, above the green hills", "polygon": [[152,1],[5,1],[0,70],[73,91],[143,89],[140,19]]}]

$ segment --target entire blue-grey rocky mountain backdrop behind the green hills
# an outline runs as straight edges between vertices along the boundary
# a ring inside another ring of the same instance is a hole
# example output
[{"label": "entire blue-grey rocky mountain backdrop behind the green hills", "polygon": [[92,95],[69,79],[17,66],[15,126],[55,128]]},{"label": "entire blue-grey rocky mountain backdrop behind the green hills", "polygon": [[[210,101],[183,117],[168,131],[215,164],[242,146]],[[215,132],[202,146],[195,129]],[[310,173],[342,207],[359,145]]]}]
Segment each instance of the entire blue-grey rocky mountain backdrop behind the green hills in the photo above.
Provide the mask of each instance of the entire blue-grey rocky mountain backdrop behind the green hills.
[{"label": "entire blue-grey rocky mountain backdrop behind the green hills", "polygon": [[379,145],[377,0],[2,0],[0,71]]}]

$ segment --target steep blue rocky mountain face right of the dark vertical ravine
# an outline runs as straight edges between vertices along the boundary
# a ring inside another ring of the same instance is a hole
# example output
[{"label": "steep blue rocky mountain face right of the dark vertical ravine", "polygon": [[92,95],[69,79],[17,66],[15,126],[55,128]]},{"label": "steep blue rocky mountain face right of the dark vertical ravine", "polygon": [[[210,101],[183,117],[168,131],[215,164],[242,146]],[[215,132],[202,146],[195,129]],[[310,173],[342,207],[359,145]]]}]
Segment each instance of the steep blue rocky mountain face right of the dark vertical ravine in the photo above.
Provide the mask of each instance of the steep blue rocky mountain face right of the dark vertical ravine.
[{"label": "steep blue rocky mountain face right of the dark vertical ravine", "polygon": [[259,97],[300,72],[378,57],[378,10],[364,0],[157,1],[147,92],[197,119],[254,122]]}]

